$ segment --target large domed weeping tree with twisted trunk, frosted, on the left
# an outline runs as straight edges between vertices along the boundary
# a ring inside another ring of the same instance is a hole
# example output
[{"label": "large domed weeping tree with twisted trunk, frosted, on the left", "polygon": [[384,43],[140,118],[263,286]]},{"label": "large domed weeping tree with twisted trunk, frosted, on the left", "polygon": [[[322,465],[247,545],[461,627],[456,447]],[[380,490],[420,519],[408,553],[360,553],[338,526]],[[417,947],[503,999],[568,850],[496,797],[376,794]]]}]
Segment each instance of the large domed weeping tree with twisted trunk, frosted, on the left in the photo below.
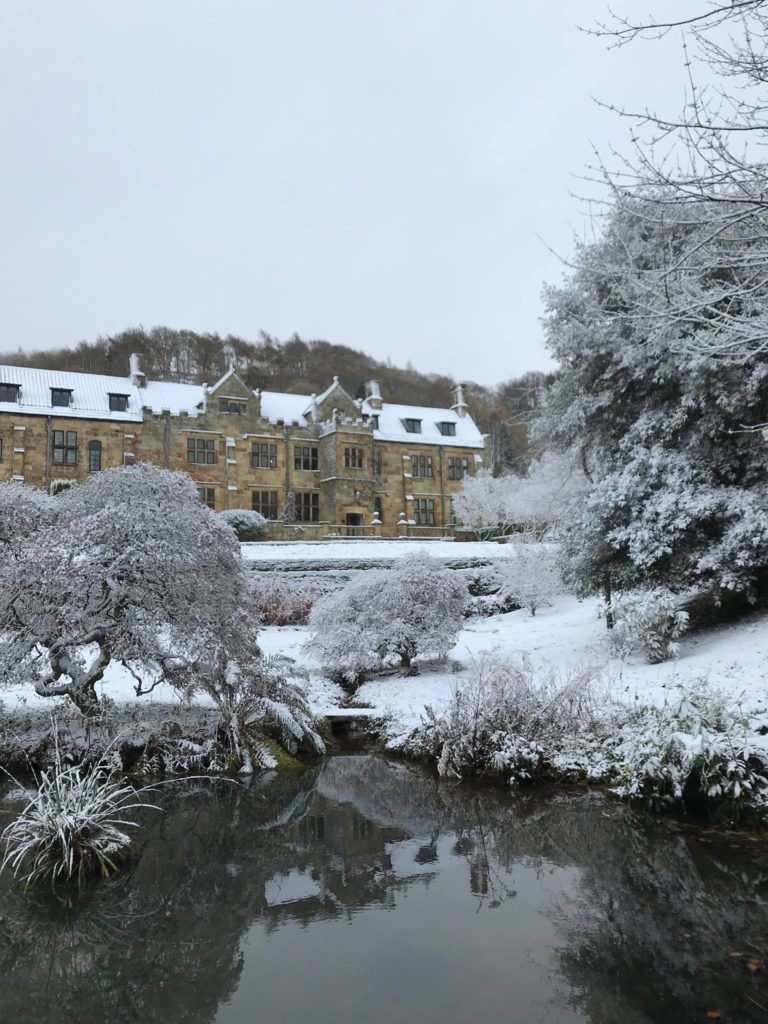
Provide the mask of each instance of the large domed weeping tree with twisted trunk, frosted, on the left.
[{"label": "large domed weeping tree with twisted trunk, frosted, on the left", "polygon": [[0,674],[98,710],[111,663],[143,693],[229,638],[245,596],[237,540],[185,474],[108,470],[0,547]]}]

